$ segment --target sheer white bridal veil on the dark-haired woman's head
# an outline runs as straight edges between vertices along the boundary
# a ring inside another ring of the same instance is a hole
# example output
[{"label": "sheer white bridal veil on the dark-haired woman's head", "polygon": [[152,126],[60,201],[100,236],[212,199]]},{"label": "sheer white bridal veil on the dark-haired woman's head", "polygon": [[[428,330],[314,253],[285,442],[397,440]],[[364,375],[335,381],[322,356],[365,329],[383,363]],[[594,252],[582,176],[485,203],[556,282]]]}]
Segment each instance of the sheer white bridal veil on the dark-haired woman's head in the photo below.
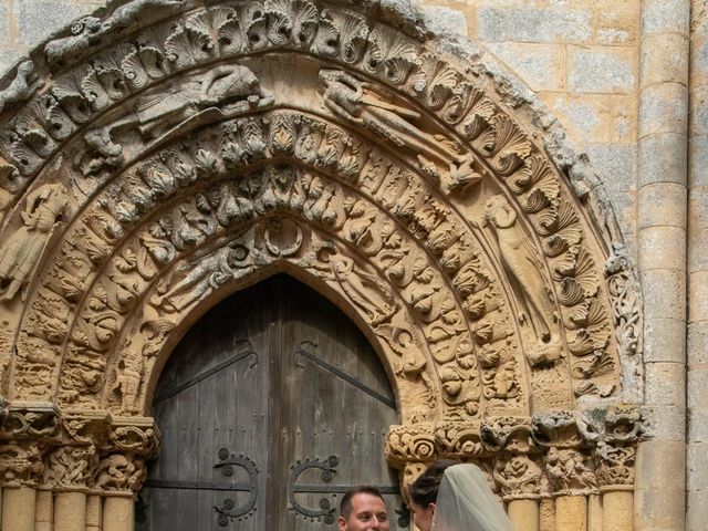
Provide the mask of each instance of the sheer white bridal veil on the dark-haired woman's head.
[{"label": "sheer white bridal veil on the dark-haired woman's head", "polygon": [[434,531],[512,531],[511,522],[482,471],[475,465],[445,470],[436,501]]}]

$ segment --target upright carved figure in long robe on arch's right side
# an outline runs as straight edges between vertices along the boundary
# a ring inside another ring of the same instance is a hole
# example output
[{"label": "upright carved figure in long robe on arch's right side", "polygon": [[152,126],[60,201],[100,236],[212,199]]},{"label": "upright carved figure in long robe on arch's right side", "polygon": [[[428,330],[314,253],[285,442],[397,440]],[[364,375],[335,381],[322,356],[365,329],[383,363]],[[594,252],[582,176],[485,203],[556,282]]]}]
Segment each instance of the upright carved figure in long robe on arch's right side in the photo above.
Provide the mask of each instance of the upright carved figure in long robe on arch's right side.
[{"label": "upright carved figure in long robe on arch's right side", "polygon": [[501,263],[517,282],[519,293],[529,311],[521,320],[530,319],[537,337],[548,343],[552,336],[551,321],[555,321],[555,306],[546,287],[543,270],[535,249],[517,226],[517,212],[501,196],[493,196],[485,205],[485,225],[497,233]]}]

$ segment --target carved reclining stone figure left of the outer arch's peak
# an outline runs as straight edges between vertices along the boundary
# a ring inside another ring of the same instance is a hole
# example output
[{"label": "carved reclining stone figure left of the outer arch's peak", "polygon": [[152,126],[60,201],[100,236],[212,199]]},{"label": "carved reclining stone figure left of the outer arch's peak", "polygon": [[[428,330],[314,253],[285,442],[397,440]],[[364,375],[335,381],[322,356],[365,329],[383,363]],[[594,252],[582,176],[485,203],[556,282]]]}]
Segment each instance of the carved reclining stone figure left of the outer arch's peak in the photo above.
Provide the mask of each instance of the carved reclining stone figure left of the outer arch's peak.
[{"label": "carved reclining stone figure left of the outer arch's peak", "polygon": [[123,146],[113,133],[137,128],[144,138],[165,142],[208,122],[271,105],[273,97],[247,66],[223,64],[191,75],[179,83],[147,91],[135,111],[104,127],[88,131],[86,144],[101,157],[83,168],[88,175],[123,160]]}]

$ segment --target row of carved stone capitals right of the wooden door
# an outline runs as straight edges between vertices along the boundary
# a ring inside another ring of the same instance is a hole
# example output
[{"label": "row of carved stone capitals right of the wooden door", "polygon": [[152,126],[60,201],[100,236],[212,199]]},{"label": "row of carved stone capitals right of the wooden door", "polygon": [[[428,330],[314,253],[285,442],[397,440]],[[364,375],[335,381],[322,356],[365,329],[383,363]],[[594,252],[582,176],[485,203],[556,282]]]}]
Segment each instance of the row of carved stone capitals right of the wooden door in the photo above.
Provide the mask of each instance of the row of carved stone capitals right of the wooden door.
[{"label": "row of carved stone capitals right of the wooden door", "polygon": [[386,457],[406,470],[436,458],[472,460],[490,470],[506,500],[584,496],[632,488],[643,430],[644,420],[632,406],[392,426]]}]

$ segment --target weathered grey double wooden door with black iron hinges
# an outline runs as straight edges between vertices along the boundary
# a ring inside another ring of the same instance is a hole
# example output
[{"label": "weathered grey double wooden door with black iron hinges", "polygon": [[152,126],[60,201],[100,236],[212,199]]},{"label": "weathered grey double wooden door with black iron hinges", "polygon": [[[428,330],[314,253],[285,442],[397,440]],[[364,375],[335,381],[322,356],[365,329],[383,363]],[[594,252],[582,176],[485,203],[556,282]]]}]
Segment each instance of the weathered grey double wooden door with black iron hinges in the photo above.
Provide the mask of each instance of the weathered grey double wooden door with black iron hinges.
[{"label": "weathered grey double wooden door with black iron hinges", "polygon": [[386,431],[396,423],[376,353],[331,302],[287,275],[209,311],[173,353],[154,415],[160,456],[136,529],[335,530],[356,485],[408,527]]}]

